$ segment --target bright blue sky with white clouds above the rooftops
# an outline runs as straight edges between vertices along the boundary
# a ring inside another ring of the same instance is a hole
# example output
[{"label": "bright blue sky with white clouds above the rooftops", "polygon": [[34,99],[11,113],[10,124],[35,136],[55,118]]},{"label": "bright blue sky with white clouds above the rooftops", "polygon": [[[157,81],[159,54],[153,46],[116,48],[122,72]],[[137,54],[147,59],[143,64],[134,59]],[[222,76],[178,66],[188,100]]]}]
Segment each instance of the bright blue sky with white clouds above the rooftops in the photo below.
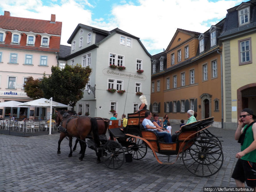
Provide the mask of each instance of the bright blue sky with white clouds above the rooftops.
[{"label": "bright blue sky with white clouds above the rooftops", "polygon": [[[244,0],[246,2],[247,0]],[[204,33],[241,0],[1,0],[0,15],[62,22],[61,44],[85,24],[119,28],[140,38],[151,54],[166,49],[177,28]]]}]

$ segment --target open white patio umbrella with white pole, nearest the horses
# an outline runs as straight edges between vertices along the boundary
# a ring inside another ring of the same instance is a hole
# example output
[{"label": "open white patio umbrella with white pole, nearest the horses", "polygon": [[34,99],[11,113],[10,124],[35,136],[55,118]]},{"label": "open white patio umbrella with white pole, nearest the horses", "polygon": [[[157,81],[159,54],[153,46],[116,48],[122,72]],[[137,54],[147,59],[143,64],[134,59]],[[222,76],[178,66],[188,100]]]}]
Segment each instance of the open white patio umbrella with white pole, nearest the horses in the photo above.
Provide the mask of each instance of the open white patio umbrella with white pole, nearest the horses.
[{"label": "open white patio umbrella with white pole, nearest the horses", "polygon": [[52,113],[52,107],[70,107],[68,105],[58,103],[52,100],[52,97],[50,99],[41,98],[36,99],[33,101],[28,101],[26,103],[18,104],[17,106],[30,106],[30,107],[50,107],[50,128],[49,128],[49,135],[51,135],[51,113]]}]

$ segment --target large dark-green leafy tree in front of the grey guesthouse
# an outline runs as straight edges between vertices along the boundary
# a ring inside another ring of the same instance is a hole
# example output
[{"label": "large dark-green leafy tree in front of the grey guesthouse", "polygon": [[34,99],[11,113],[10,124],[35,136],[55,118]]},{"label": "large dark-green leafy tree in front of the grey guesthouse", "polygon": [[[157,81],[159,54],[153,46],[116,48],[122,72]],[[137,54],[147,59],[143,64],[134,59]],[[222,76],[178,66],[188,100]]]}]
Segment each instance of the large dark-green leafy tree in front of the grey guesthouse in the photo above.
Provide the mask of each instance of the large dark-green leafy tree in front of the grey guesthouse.
[{"label": "large dark-green leafy tree in front of the grey guesthouse", "polygon": [[[52,97],[56,102],[74,107],[83,97],[91,71],[90,67],[81,67],[81,65],[74,67],[66,65],[63,69],[52,66],[51,75],[46,77],[44,73],[43,79],[38,80],[38,89],[43,92],[45,98]],[[25,92],[28,94],[26,90]]]}]

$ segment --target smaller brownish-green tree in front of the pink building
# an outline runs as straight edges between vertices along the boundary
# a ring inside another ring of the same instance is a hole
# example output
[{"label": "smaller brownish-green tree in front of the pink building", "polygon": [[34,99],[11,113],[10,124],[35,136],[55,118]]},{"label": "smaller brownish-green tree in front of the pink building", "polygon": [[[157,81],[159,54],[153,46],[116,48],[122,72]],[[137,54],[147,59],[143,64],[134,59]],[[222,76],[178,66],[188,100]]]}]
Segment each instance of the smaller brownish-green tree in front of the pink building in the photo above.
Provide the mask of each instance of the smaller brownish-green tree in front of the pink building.
[{"label": "smaller brownish-green tree in front of the pink building", "polygon": [[39,79],[34,79],[33,77],[28,77],[25,84],[23,85],[24,91],[33,99],[40,99],[44,97],[44,93],[41,89],[41,83]]}]

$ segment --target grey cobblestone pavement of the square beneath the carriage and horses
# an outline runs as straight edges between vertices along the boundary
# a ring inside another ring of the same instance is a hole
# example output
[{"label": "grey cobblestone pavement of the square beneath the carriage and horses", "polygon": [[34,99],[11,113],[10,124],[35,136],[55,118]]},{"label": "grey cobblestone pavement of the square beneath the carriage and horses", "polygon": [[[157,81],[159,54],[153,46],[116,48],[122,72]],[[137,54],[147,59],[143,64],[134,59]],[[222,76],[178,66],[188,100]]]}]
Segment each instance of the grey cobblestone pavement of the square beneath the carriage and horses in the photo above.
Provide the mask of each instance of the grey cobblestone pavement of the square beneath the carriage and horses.
[{"label": "grey cobblestone pavement of the square beneath the carriage and horses", "polygon": [[[172,126],[173,131],[179,127]],[[223,137],[224,163],[217,174],[203,178],[188,172],[181,159],[173,165],[159,164],[151,150],[143,159],[111,170],[103,163],[96,164],[95,152],[89,148],[83,161],[78,160],[79,146],[69,158],[67,139],[57,154],[59,134],[0,135],[0,191],[203,191],[203,187],[234,187],[230,176],[237,161],[235,154],[240,151],[240,144],[234,141],[235,130],[208,129]]]}]

